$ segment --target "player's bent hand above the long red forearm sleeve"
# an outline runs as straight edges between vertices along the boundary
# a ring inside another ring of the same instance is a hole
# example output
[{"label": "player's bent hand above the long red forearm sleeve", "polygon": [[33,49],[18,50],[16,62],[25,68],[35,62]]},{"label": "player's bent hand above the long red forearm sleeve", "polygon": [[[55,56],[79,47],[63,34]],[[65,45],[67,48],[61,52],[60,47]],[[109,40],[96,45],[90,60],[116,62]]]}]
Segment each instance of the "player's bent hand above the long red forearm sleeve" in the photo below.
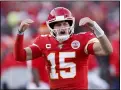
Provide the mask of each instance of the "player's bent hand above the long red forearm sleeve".
[{"label": "player's bent hand above the long red forearm sleeve", "polygon": [[30,24],[32,24],[34,21],[31,19],[25,19],[21,22],[20,27],[19,27],[19,32],[24,32]]}]

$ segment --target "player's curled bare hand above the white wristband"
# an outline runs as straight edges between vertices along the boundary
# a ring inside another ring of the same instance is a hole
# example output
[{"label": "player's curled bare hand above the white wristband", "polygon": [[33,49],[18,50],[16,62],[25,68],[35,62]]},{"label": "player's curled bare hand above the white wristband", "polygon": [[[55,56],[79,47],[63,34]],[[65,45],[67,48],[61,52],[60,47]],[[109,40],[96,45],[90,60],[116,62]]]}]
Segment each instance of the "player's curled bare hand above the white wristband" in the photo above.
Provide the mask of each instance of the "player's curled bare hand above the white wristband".
[{"label": "player's curled bare hand above the white wristband", "polygon": [[79,26],[83,26],[83,25],[88,25],[90,27],[93,27],[94,21],[91,20],[89,17],[84,17],[79,21]]}]

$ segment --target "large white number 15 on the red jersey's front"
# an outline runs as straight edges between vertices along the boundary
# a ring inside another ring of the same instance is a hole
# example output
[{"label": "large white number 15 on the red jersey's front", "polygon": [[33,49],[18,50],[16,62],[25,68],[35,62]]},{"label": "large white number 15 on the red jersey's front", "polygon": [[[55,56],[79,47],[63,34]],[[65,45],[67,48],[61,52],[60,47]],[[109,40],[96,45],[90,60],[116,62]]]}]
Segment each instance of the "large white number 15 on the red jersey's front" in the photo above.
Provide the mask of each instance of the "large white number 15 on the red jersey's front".
[{"label": "large white number 15 on the red jersey's front", "polygon": [[[65,62],[65,58],[75,58],[75,52],[60,52],[59,53],[59,68],[65,69],[69,68],[70,72],[65,70],[60,70],[60,76],[62,78],[74,78],[76,76],[76,64],[74,62]],[[48,60],[51,63],[51,79],[59,79],[59,74],[56,72],[56,62],[55,62],[55,53],[50,53],[48,55]]]}]

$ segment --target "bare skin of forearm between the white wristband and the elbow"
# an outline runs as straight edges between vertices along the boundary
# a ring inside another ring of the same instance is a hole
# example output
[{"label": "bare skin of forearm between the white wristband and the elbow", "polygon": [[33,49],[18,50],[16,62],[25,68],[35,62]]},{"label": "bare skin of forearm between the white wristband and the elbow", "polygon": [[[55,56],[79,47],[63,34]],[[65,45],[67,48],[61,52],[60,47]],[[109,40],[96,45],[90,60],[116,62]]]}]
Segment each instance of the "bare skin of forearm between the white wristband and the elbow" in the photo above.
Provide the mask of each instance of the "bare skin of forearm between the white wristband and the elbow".
[{"label": "bare skin of forearm between the white wristband and the elbow", "polygon": [[99,37],[98,40],[101,44],[102,49],[105,51],[105,53],[110,54],[113,52],[112,45],[105,34]]}]

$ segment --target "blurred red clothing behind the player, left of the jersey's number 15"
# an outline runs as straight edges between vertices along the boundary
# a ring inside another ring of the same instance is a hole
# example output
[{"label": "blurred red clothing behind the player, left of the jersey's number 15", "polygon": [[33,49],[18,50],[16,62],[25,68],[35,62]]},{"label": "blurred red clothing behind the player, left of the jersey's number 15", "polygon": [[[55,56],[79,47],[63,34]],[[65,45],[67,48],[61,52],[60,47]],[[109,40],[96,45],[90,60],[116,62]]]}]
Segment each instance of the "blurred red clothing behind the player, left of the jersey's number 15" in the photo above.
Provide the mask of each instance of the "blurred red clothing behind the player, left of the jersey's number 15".
[{"label": "blurred red clothing behind the player, left of the jersey's number 15", "polygon": [[43,57],[32,60],[32,67],[39,72],[40,80],[49,84],[49,77],[45,67],[45,59]]}]

